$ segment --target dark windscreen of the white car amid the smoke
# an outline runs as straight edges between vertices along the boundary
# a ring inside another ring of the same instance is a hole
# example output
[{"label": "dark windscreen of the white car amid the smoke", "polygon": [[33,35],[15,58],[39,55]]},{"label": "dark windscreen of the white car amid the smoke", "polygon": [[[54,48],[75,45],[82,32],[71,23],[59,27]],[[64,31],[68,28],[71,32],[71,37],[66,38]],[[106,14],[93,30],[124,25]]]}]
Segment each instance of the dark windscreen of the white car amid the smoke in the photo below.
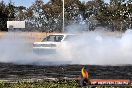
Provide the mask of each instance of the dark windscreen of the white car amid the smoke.
[{"label": "dark windscreen of the white car amid the smoke", "polygon": [[42,42],[49,41],[49,42],[61,42],[64,35],[49,35],[42,40]]}]

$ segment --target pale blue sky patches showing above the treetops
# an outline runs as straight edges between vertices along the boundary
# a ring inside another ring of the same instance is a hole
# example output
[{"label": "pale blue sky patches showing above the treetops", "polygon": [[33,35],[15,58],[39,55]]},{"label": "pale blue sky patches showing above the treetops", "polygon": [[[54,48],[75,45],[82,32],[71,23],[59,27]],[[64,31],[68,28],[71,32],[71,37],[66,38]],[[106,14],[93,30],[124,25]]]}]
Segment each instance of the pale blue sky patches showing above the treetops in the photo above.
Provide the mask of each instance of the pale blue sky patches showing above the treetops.
[{"label": "pale blue sky patches showing above the treetops", "polygon": [[[0,0],[2,1],[2,0]],[[35,0],[3,0],[4,2],[8,3],[10,1],[14,2],[15,5],[17,6],[26,6],[26,7],[29,7],[32,5],[32,3],[35,1]],[[49,0],[43,0],[44,3],[47,3]],[[80,1],[90,1],[90,0],[80,0]],[[105,2],[109,2],[110,0],[104,0]]]}]

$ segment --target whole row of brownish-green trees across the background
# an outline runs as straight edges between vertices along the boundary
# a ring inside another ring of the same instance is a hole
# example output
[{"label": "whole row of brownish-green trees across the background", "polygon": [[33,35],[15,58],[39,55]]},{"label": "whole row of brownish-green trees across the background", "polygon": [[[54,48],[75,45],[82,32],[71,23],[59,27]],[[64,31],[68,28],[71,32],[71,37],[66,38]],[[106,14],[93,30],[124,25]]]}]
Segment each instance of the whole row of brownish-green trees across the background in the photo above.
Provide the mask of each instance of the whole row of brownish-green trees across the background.
[{"label": "whole row of brownish-green trees across the background", "polygon": [[[69,24],[87,25],[94,30],[97,26],[112,31],[132,28],[132,0],[64,0],[65,26]],[[27,31],[62,32],[63,1],[35,0],[30,7],[15,6],[13,2],[0,1],[0,30],[7,31],[8,20],[25,20]],[[83,26],[83,25],[82,25]]]}]

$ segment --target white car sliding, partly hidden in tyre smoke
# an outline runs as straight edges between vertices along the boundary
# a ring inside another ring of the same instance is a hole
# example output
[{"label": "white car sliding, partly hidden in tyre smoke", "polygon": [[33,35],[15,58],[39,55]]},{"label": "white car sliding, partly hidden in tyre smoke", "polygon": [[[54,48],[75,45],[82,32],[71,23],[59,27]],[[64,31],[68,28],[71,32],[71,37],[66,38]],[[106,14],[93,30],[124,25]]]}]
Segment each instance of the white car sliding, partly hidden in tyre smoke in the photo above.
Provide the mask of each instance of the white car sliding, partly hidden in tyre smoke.
[{"label": "white car sliding, partly hidden in tyre smoke", "polygon": [[33,50],[38,54],[55,54],[57,50],[60,52],[65,50],[66,53],[68,48],[70,48],[68,41],[71,38],[75,38],[75,34],[52,34],[41,42],[34,42]]}]

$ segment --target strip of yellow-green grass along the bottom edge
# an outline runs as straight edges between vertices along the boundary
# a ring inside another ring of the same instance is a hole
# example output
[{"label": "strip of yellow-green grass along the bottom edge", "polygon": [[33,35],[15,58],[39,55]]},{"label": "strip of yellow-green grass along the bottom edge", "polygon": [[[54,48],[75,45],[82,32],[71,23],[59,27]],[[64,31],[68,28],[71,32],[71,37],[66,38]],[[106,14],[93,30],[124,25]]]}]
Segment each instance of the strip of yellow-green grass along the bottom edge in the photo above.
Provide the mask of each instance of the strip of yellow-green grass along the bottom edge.
[{"label": "strip of yellow-green grass along the bottom edge", "polygon": [[85,86],[80,87],[75,80],[63,81],[41,81],[41,82],[0,82],[0,88],[132,88],[130,87],[116,87],[116,86]]}]

